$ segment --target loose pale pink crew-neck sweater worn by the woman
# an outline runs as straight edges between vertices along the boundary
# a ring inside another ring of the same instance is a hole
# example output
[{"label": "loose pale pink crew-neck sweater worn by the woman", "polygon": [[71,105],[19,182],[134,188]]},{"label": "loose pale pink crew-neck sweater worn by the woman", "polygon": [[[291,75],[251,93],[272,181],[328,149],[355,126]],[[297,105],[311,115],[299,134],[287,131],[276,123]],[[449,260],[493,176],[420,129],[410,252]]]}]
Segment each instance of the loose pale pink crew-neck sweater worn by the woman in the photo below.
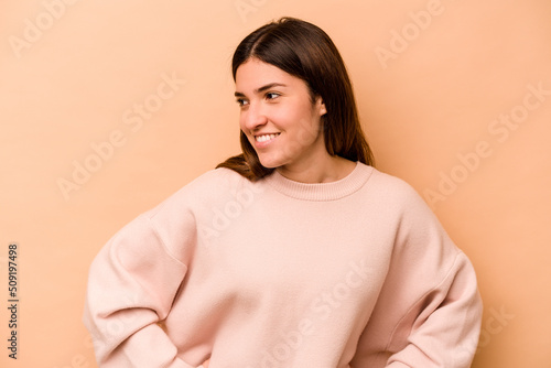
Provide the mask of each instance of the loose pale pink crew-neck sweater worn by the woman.
[{"label": "loose pale pink crew-neck sweater worn by the woman", "polygon": [[218,169],[94,260],[100,367],[469,367],[482,302],[467,257],[404,182],[358,163],[323,184]]}]

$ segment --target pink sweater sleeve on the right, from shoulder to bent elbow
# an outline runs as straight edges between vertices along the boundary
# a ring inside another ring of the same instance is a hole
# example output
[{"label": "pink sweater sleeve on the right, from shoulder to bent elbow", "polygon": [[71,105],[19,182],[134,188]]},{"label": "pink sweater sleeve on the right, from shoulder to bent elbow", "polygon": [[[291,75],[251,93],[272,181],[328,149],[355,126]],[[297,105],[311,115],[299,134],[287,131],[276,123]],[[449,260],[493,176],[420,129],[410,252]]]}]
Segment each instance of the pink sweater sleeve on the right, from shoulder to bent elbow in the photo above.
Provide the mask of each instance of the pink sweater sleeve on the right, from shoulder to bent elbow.
[{"label": "pink sweater sleeve on the right, from shoulder to bent elbow", "polygon": [[471,367],[482,318],[475,271],[408,192],[387,279],[352,367]]}]

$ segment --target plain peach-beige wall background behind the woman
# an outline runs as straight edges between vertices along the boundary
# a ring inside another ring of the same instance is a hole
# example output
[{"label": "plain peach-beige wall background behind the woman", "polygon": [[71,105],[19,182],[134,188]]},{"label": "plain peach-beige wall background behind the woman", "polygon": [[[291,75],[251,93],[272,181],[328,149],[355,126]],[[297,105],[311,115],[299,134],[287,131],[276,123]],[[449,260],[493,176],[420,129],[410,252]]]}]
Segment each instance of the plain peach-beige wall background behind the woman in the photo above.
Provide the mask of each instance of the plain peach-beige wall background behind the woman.
[{"label": "plain peach-beige wall background behind the woman", "polygon": [[485,302],[473,366],[551,367],[548,0],[2,1],[0,366],[96,367],[80,323],[93,257],[239,151],[231,53],[281,15],[333,37],[378,167],[472,259]]}]

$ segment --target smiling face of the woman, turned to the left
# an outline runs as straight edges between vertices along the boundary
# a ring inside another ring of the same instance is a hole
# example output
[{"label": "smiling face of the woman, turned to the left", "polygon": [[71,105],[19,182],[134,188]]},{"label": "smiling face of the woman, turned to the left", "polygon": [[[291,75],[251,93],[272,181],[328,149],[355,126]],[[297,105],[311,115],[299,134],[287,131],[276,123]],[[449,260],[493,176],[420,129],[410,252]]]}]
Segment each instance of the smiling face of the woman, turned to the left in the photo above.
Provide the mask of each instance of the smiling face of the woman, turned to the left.
[{"label": "smiling face of the woman, turned to the left", "polygon": [[325,105],[312,102],[306,83],[251,58],[236,73],[240,128],[264,167],[301,166],[326,156],[321,129]]}]

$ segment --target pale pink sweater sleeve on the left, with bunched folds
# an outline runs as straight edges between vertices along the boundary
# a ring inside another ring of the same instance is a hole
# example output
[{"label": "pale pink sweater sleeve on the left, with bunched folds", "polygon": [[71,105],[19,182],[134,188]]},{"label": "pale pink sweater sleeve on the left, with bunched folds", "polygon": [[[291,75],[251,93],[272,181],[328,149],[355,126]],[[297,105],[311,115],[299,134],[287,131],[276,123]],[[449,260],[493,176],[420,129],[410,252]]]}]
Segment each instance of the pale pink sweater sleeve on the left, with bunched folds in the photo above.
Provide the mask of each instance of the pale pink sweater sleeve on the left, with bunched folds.
[{"label": "pale pink sweater sleeve on the left, with bunched folds", "polygon": [[193,368],[160,326],[186,270],[147,215],[108,241],[91,263],[84,312],[100,367]]}]

